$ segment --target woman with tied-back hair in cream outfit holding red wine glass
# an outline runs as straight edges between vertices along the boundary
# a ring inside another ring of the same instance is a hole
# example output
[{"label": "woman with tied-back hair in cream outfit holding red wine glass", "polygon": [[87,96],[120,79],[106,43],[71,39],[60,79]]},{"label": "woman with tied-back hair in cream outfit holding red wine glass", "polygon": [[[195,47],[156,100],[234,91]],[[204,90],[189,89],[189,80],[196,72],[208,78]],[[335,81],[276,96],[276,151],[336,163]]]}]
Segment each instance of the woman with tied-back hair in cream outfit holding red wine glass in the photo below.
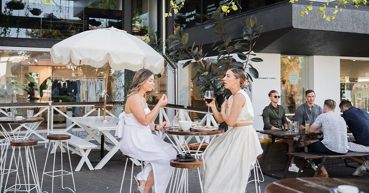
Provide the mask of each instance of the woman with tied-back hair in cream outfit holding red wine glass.
[{"label": "woman with tied-back hair in cream outfit holding red wine glass", "polygon": [[249,85],[245,73],[229,69],[223,83],[232,96],[223,102],[220,112],[214,100],[206,104],[211,107],[215,120],[225,121],[229,128],[203,154],[202,186],[205,193],[244,193],[250,168],[263,150],[252,127],[251,100],[242,89]]}]

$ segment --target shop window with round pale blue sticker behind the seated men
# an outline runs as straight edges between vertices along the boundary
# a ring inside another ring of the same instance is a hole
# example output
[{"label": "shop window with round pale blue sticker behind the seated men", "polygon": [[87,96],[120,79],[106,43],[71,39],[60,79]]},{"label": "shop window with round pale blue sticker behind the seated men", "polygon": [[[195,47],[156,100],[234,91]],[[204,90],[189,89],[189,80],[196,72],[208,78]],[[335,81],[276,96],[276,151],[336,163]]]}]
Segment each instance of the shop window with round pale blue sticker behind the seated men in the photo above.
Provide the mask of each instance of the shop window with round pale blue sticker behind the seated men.
[{"label": "shop window with round pale blue sticker behind the seated men", "polygon": [[308,89],[307,57],[281,56],[281,105],[286,113],[295,113],[305,102]]}]

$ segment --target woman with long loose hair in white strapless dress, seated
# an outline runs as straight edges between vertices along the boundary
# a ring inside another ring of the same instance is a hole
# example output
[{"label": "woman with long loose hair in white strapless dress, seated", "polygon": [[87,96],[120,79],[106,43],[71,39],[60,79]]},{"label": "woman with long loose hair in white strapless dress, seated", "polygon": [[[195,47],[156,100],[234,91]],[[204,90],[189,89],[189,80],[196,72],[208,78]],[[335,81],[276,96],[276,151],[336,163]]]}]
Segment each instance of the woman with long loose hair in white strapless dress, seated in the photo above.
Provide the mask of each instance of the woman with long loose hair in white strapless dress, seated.
[{"label": "woman with long loose hair in white strapless dress, seated", "polygon": [[[173,168],[170,160],[176,158],[176,150],[152,133],[152,130],[167,129],[168,123],[160,125],[152,123],[161,106],[168,103],[163,95],[158,104],[150,110],[145,93],[154,88],[154,74],[141,69],[133,77],[124,112],[119,115],[117,134],[122,137],[120,149],[123,154],[145,161],[145,167],[135,177],[140,193],[149,193],[153,187],[155,193],[165,193]],[[155,184],[155,186],[154,186]]]}]

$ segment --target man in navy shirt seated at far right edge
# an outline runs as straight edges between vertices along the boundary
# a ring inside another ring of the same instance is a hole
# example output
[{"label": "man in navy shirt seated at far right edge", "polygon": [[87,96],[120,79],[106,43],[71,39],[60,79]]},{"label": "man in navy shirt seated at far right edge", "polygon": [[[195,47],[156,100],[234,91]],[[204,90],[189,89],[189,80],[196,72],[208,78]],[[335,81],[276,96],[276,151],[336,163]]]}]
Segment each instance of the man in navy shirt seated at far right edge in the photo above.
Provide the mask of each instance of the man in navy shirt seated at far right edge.
[{"label": "man in navy shirt seated at far right edge", "polygon": [[[354,142],[349,142],[349,150],[355,152],[369,153],[369,113],[361,108],[352,106],[349,100],[340,103],[342,117],[355,137]],[[364,157],[347,158],[359,163],[353,176],[363,176],[369,171],[369,161]]]}]

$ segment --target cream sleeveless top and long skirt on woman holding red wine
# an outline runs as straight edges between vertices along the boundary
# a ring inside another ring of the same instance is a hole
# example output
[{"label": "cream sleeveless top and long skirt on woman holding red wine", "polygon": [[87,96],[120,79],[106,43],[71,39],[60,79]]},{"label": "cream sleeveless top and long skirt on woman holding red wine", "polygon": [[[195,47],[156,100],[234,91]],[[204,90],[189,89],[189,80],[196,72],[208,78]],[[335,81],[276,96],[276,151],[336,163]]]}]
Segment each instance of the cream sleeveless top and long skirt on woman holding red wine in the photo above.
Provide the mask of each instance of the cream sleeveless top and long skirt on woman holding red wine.
[{"label": "cream sleeveless top and long skirt on woman holding red wine", "polygon": [[[251,100],[240,90],[245,105],[236,123],[252,123],[254,113]],[[233,96],[228,98],[226,114],[229,115]],[[250,167],[256,157],[263,153],[259,138],[252,125],[229,128],[214,139],[203,154],[202,186],[204,193],[244,193]]]}]

